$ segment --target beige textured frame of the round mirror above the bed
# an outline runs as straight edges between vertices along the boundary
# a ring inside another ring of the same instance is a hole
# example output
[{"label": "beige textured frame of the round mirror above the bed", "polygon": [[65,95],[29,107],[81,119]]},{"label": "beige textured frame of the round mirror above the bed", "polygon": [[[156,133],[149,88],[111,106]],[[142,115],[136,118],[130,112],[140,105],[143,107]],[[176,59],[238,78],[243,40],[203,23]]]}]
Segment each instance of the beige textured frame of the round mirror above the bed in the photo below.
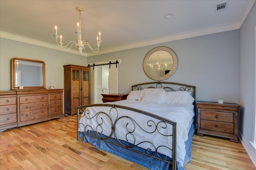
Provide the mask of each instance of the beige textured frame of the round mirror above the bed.
[{"label": "beige textured frame of the round mirror above the bed", "polygon": [[[148,72],[148,69],[147,69],[147,61],[149,59],[149,57],[156,51],[159,51],[159,50],[163,50],[163,51],[167,51],[168,53],[170,53],[170,55],[172,56],[172,59],[173,59],[173,66],[172,66],[172,69],[167,73],[165,74],[164,76],[161,76],[161,77],[156,77],[156,76],[152,76],[152,74],[150,74]],[[176,71],[177,69],[177,66],[178,66],[178,58],[176,56],[176,54],[174,53],[174,51],[172,51],[172,49],[168,48],[168,47],[155,47],[154,49],[150,50],[147,55],[145,56],[144,58],[144,61],[143,61],[143,69],[144,69],[144,72],[145,74],[151,78],[152,80],[166,80],[167,78],[169,78],[170,76],[172,76],[172,74],[174,74],[174,72]]]}]

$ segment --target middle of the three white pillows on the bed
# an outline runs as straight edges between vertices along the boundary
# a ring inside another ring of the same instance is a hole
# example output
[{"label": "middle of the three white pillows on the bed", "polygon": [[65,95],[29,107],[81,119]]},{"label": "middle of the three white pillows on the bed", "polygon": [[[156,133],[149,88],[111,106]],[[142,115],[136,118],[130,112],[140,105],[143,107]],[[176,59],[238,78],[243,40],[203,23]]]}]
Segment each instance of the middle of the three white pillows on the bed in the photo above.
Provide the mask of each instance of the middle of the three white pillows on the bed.
[{"label": "middle of the three white pillows on the bed", "polygon": [[142,90],[138,100],[141,102],[164,103],[165,96],[163,88],[146,88]]}]

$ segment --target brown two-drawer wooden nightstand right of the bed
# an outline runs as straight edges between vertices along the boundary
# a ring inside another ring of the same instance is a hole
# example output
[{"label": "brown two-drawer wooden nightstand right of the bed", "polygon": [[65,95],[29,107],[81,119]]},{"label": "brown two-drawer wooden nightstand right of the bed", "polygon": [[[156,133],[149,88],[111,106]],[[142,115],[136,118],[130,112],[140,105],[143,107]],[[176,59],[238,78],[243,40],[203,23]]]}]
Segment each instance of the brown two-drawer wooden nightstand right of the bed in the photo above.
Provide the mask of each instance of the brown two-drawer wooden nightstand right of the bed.
[{"label": "brown two-drawer wooden nightstand right of the bed", "polygon": [[238,142],[239,105],[235,103],[196,102],[198,108],[197,135],[213,135]]}]

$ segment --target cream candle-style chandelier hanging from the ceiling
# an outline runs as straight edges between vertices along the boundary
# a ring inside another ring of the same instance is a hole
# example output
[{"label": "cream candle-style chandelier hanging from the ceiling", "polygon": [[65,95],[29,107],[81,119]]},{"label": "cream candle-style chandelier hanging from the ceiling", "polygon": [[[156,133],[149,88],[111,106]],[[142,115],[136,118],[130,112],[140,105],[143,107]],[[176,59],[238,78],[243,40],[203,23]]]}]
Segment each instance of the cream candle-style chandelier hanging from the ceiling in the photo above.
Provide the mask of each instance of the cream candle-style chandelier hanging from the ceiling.
[{"label": "cream candle-style chandelier hanging from the ceiling", "polygon": [[[78,49],[79,53],[82,54],[82,51],[84,49],[84,46],[87,45],[94,53],[97,53],[100,50],[100,43],[102,42],[102,40],[100,39],[100,35],[101,33],[99,32],[99,37],[97,37],[97,46],[98,48],[93,49],[90,44],[86,41],[86,40],[82,40],[82,32],[81,32],[81,12],[84,11],[84,8],[82,7],[76,7],[76,10],[78,10],[79,12],[79,21],[76,23],[77,25],[77,31],[75,32],[77,34],[77,39],[78,39],[78,43],[76,43],[75,41],[70,41],[66,46],[63,46],[62,43],[62,35],[60,35],[60,43],[57,42],[58,39],[58,27],[57,25],[55,25],[55,35],[53,35],[56,38],[56,43],[58,46],[60,46],[60,48],[62,49],[62,51],[68,51],[70,50],[70,48],[72,47],[72,45],[76,45],[76,48]],[[72,43],[72,44],[71,44]],[[68,47],[70,45],[70,47],[68,48],[68,50],[64,50],[63,48]]]}]

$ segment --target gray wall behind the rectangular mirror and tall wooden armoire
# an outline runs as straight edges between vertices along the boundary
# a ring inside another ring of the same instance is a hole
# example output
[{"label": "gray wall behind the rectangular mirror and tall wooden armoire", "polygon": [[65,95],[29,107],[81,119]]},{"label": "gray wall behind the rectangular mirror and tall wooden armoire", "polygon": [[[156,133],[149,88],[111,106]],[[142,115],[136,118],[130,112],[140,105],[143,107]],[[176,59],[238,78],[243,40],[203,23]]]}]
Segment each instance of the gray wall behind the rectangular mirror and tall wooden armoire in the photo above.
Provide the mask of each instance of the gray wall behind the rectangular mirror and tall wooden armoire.
[{"label": "gray wall behind the rectangular mirror and tall wooden armoire", "polygon": [[0,38],[0,90],[10,90],[10,62],[14,57],[44,61],[46,88],[64,88],[63,65],[87,66],[87,58],[19,41]]}]

